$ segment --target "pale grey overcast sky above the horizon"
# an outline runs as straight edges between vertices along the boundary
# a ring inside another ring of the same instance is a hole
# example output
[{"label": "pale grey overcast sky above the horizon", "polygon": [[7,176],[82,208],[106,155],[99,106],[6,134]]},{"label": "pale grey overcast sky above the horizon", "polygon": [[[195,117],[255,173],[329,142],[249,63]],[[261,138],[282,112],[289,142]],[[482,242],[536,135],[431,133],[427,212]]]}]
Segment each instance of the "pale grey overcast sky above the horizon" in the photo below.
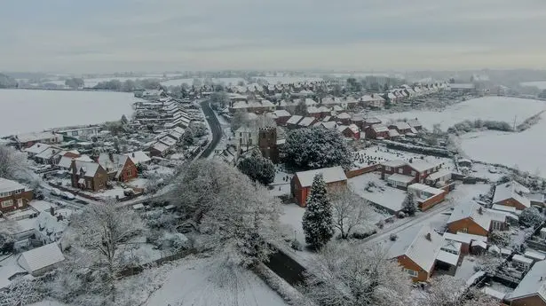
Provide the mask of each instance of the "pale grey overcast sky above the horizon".
[{"label": "pale grey overcast sky above the horizon", "polygon": [[546,68],[546,0],[2,0],[0,71]]}]

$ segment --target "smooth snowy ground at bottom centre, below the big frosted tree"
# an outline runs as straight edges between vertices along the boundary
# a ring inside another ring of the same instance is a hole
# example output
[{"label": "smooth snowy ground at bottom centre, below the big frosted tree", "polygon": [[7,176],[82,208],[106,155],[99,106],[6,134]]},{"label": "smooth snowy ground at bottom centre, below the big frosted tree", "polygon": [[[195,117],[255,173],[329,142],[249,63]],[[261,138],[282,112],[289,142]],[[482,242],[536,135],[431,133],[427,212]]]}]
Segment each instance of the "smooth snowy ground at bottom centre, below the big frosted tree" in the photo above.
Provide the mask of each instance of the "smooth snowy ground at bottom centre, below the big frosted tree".
[{"label": "smooth snowy ground at bottom centre, below the big frosted tree", "polygon": [[213,267],[211,259],[186,258],[179,261],[146,305],[287,305],[252,272],[241,270],[229,275],[226,272],[226,278],[220,278]]}]

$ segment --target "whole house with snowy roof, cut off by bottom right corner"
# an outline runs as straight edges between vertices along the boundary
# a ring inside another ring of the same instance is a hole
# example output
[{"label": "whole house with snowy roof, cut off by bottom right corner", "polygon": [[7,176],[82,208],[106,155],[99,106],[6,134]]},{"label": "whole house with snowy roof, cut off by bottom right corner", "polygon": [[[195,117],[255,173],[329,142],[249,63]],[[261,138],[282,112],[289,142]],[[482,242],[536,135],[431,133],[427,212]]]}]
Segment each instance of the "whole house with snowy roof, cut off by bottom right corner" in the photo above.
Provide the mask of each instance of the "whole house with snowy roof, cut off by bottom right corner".
[{"label": "whole house with snowy roof, cut off by bottom right corner", "polygon": [[546,261],[534,263],[506,299],[510,306],[546,306]]}]

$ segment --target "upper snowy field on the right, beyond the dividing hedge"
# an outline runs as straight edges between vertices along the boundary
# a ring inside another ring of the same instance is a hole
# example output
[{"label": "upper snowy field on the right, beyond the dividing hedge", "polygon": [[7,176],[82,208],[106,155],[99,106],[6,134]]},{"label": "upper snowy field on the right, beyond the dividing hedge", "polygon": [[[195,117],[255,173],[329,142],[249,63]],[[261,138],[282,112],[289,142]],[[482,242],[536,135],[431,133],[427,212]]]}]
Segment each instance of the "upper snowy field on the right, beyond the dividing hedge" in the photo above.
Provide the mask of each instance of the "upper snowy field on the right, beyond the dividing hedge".
[{"label": "upper snowy field on the right, beyond the dividing hedge", "polygon": [[447,129],[455,123],[465,120],[495,120],[516,123],[524,122],[527,118],[546,109],[546,102],[508,97],[484,97],[448,106],[442,111],[412,111],[393,114],[379,114],[379,119],[389,120],[415,119],[423,124],[426,129],[432,129],[436,123],[441,129]]}]

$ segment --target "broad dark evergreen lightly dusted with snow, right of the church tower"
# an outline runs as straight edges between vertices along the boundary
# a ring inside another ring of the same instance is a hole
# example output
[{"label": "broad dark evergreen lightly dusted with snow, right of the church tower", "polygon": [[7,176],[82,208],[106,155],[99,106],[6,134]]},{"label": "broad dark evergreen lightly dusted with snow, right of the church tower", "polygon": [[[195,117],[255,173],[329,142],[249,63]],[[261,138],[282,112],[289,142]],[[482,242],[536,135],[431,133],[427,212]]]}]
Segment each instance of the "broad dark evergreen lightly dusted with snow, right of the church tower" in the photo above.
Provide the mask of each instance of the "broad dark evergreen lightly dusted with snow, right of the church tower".
[{"label": "broad dark evergreen lightly dusted with snow, right of the church tower", "polygon": [[347,168],[351,154],[343,137],[335,130],[293,129],[287,133],[281,156],[297,169]]}]

